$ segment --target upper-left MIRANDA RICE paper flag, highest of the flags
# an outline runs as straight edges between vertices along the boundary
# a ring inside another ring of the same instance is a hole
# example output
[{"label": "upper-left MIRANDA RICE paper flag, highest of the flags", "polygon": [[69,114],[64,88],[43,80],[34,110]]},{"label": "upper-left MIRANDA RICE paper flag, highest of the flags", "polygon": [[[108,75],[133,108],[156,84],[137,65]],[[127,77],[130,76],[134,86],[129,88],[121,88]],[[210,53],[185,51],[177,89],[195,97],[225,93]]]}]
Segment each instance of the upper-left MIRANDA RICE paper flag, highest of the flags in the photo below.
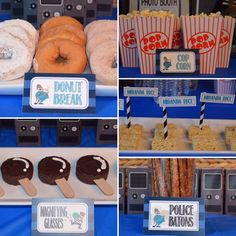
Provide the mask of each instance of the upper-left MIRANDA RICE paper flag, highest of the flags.
[{"label": "upper-left MIRANDA RICE paper flag, highest of the flags", "polygon": [[126,97],[157,97],[158,88],[124,87]]}]

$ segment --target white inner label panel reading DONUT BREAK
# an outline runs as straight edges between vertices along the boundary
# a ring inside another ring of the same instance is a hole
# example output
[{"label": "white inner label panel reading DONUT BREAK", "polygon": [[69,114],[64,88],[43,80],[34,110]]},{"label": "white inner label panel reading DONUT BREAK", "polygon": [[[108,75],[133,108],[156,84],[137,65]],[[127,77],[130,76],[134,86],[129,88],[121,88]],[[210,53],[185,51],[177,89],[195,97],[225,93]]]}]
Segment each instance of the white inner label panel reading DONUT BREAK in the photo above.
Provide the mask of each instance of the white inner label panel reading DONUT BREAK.
[{"label": "white inner label panel reading DONUT BREAK", "polygon": [[84,110],[89,106],[89,82],[86,78],[34,77],[29,102],[37,109]]}]

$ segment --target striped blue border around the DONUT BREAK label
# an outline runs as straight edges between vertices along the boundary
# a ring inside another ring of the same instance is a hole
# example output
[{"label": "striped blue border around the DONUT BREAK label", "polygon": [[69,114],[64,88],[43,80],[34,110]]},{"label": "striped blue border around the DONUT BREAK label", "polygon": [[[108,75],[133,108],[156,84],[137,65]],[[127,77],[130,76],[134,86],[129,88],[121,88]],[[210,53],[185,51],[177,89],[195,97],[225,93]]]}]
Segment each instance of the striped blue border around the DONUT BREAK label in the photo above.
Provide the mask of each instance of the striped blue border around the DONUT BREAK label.
[{"label": "striped blue border around the DONUT BREAK label", "polygon": [[[71,77],[71,78],[87,78],[89,82],[89,106],[84,110],[76,109],[34,109],[29,105],[30,99],[30,82],[34,77]],[[77,113],[77,114],[95,114],[96,112],[96,82],[95,75],[92,74],[44,74],[44,73],[27,73],[25,74],[24,92],[22,98],[23,112],[30,113]]]}]

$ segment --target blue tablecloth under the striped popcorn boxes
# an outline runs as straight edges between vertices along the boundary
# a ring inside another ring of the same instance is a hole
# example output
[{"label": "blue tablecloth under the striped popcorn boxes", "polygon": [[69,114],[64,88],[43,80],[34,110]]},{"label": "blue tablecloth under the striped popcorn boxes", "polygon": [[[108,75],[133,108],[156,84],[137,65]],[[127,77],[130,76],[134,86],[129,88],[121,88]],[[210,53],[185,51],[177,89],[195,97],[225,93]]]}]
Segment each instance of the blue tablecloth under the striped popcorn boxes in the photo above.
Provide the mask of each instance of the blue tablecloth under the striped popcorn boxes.
[{"label": "blue tablecloth under the striped popcorn boxes", "polygon": [[[160,78],[160,77],[176,77],[175,76],[165,76],[165,75],[142,75],[139,68],[124,68],[120,65],[119,68],[120,78]],[[179,77],[187,78],[228,78],[236,76],[236,58],[232,57],[230,61],[230,67],[227,69],[216,69],[215,75],[181,75]]]}]

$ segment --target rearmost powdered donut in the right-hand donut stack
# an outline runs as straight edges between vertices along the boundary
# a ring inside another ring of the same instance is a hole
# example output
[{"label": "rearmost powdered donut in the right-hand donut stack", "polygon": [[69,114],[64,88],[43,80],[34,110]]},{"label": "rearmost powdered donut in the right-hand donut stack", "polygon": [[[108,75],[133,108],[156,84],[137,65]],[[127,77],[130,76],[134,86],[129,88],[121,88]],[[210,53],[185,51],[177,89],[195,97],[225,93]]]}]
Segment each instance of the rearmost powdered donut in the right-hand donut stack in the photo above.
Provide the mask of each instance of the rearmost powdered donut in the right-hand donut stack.
[{"label": "rearmost powdered donut in the right-hand donut stack", "polygon": [[117,21],[116,20],[106,20],[106,21],[96,21],[87,31],[87,39],[92,37],[97,37],[99,34],[105,31],[115,31],[117,32]]}]

